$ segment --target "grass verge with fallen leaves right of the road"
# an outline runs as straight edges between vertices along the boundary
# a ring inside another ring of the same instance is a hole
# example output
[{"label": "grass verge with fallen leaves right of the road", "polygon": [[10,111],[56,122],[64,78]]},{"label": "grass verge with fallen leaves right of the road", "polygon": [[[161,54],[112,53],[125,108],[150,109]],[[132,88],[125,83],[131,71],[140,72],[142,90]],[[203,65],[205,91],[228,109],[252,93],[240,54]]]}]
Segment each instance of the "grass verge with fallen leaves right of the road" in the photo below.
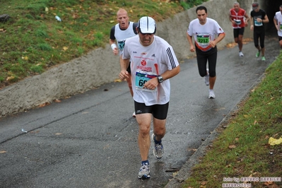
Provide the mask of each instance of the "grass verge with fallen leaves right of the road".
[{"label": "grass verge with fallen leaves right of the road", "polygon": [[228,119],[228,126],[218,131],[221,134],[182,187],[282,187],[282,143],[269,144],[271,137],[282,139],[282,53]]}]

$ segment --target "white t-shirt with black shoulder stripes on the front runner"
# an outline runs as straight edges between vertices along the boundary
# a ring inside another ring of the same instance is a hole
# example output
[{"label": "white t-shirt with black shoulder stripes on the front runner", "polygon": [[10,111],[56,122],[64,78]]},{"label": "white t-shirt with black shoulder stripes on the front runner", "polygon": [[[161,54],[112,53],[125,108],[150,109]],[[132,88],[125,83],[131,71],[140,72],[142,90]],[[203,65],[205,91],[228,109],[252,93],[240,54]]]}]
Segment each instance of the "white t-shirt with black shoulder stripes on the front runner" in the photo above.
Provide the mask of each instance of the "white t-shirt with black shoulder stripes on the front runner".
[{"label": "white t-shirt with black shoulder stripes on the front runner", "polygon": [[131,79],[136,102],[145,105],[164,105],[170,100],[170,80],[160,83],[155,90],[143,89],[150,78],[179,66],[172,47],[162,38],[154,35],[152,44],[143,47],[139,35],[126,40],[123,59],[131,59]]}]

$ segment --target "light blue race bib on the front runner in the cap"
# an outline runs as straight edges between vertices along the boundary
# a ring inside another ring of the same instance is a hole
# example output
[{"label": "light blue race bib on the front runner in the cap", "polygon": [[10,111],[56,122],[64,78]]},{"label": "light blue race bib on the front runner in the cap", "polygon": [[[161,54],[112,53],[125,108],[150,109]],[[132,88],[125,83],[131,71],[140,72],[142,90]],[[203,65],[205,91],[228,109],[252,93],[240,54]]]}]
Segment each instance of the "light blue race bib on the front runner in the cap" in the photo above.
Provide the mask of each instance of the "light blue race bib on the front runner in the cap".
[{"label": "light blue race bib on the front runner in the cap", "polygon": [[158,76],[157,74],[154,74],[152,72],[136,71],[136,78],[135,78],[136,90],[156,91],[157,88],[155,88],[154,90],[149,90],[147,88],[143,88],[143,86],[147,81],[157,76]]}]

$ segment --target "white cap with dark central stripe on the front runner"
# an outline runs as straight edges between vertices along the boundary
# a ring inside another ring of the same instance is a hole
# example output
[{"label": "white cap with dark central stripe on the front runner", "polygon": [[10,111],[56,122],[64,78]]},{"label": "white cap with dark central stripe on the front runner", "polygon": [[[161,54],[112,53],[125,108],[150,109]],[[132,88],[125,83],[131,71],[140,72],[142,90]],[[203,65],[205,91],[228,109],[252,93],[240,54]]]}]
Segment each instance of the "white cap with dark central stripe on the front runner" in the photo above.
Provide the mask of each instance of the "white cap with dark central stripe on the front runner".
[{"label": "white cap with dark central stripe on the front runner", "polygon": [[140,18],[138,22],[139,31],[143,34],[155,34],[155,29],[157,26],[155,25],[155,20],[149,16],[143,16]]}]

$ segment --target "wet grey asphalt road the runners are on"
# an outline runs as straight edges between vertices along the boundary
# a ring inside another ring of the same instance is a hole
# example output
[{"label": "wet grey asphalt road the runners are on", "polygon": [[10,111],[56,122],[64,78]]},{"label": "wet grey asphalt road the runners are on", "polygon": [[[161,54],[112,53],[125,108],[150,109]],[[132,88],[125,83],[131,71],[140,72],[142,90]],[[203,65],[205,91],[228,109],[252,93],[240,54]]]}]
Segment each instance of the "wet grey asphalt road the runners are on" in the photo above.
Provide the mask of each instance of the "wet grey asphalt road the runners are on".
[{"label": "wet grey asphalt road the runners are on", "polygon": [[255,57],[253,42],[244,57],[237,47],[218,51],[215,99],[208,99],[196,59],[182,62],[171,79],[165,155],[156,160],[151,144],[149,180],[137,177],[138,124],[122,82],[1,119],[0,187],[164,187],[276,59],[276,33],[265,45],[266,61]]}]

